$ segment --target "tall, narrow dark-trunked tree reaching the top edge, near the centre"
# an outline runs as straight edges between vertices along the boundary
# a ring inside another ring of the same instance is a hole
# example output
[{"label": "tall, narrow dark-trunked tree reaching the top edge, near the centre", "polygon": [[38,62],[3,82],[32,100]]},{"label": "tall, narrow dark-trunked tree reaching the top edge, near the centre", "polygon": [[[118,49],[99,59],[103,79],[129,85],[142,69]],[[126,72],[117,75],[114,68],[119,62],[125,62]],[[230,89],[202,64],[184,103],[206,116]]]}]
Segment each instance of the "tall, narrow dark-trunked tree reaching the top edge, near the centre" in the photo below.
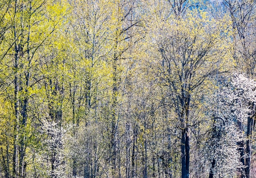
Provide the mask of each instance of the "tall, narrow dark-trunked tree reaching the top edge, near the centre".
[{"label": "tall, narrow dark-trunked tree reaching the top edge, near the centre", "polygon": [[[136,9],[138,8],[138,2],[135,1],[116,1],[113,3],[113,13],[112,19],[114,19],[112,24],[113,36],[111,41],[113,42],[113,49],[111,53],[111,67],[112,67],[112,98],[111,98],[111,110],[112,110],[112,120],[111,120],[111,148],[112,154],[112,172],[113,177],[117,176],[117,136],[118,136],[118,122],[120,120],[119,107],[121,106],[120,96],[122,93],[120,91],[122,84],[122,61],[126,60],[126,52],[130,49],[132,43],[138,42],[140,39],[141,31],[134,31],[133,27],[140,27],[141,20],[136,14]],[[133,32],[133,33],[132,33]],[[135,32],[135,33],[134,33]],[[133,40],[132,40],[133,39]],[[130,43],[129,43],[130,42]],[[120,158],[119,163],[120,165]]]}]

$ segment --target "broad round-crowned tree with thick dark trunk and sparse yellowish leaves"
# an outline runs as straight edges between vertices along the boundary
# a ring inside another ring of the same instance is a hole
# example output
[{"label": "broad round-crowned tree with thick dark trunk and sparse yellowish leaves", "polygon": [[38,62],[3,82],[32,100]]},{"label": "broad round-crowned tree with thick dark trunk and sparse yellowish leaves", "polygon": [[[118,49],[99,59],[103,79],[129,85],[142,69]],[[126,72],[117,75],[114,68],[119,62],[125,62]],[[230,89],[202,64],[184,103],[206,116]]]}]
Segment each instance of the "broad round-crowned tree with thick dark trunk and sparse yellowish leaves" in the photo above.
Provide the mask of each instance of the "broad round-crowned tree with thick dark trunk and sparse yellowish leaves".
[{"label": "broad round-crowned tree with thick dark trunk and sparse yellowish leaves", "polygon": [[199,99],[194,92],[209,76],[223,72],[222,62],[228,58],[225,44],[221,44],[224,26],[197,11],[190,11],[183,18],[158,17],[158,20],[157,26],[151,26],[154,31],[149,30],[151,48],[158,54],[153,62],[159,72],[156,75],[170,89],[181,129],[182,178],[188,178],[190,127],[195,125],[190,110]]}]

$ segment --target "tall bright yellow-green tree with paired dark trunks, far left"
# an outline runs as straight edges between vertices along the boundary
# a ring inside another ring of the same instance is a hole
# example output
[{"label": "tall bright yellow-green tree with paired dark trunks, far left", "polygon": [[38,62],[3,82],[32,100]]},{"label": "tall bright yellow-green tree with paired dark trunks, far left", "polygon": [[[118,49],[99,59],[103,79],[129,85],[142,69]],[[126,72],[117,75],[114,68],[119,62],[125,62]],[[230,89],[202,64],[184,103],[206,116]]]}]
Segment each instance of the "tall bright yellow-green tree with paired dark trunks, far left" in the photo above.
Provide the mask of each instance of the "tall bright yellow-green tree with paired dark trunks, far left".
[{"label": "tall bright yellow-green tree with paired dark trunks, far left", "polygon": [[46,1],[13,1],[11,6],[8,18],[11,19],[12,28],[6,32],[6,39],[12,42],[7,51],[8,55],[5,55],[5,65],[10,65],[9,59],[13,56],[14,72],[10,76],[14,78],[15,111],[13,177],[25,177],[28,164],[25,159],[26,146],[29,138],[27,122],[31,119],[28,113],[29,100],[33,85],[38,80],[34,75],[34,66],[38,61],[38,50],[53,33],[60,19],[53,9],[57,6]]}]

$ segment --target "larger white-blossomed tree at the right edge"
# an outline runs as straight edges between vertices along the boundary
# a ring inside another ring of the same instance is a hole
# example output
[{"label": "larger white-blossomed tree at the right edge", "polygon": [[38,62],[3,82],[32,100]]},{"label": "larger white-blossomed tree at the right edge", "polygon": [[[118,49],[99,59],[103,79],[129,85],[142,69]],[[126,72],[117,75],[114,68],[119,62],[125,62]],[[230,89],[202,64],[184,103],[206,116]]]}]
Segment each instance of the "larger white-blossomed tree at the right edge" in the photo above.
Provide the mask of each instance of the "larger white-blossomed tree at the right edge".
[{"label": "larger white-blossomed tree at the right edge", "polygon": [[238,168],[241,177],[250,177],[256,82],[234,74],[231,80],[225,78],[221,84],[208,142],[211,150],[209,178],[232,177]]}]

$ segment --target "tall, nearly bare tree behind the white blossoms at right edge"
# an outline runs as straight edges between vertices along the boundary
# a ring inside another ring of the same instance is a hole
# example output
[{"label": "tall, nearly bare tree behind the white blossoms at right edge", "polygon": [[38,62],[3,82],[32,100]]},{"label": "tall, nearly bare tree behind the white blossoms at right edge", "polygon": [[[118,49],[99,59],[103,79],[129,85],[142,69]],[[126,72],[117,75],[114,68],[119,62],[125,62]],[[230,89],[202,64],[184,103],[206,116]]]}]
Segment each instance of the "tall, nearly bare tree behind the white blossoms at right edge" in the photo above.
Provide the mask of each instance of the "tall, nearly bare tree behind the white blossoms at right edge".
[{"label": "tall, nearly bare tree behind the white blossoms at right edge", "polygon": [[[233,35],[233,58],[237,63],[237,70],[240,73],[245,72],[248,76],[252,77],[255,75],[255,2],[254,1],[231,1],[227,0],[223,2],[226,9],[228,10],[231,20],[232,28],[234,31]],[[248,111],[248,115],[254,113],[254,103],[251,103],[251,111]],[[241,160],[242,164],[246,166],[245,175],[242,177],[250,177],[251,169],[251,134],[254,129],[251,127],[253,120],[248,117],[247,120],[247,141],[246,150],[244,153],[248,154],[248,158]],[[240,132],[243,132],[243,124],[239,123]],[[252,130],[253,129],[253,130]],[[240,143],[240,147],[243,148],[245,143]],[[241,156],[244,154],[241,150]],[[242,173],[243,174],[243,173]]]}]

